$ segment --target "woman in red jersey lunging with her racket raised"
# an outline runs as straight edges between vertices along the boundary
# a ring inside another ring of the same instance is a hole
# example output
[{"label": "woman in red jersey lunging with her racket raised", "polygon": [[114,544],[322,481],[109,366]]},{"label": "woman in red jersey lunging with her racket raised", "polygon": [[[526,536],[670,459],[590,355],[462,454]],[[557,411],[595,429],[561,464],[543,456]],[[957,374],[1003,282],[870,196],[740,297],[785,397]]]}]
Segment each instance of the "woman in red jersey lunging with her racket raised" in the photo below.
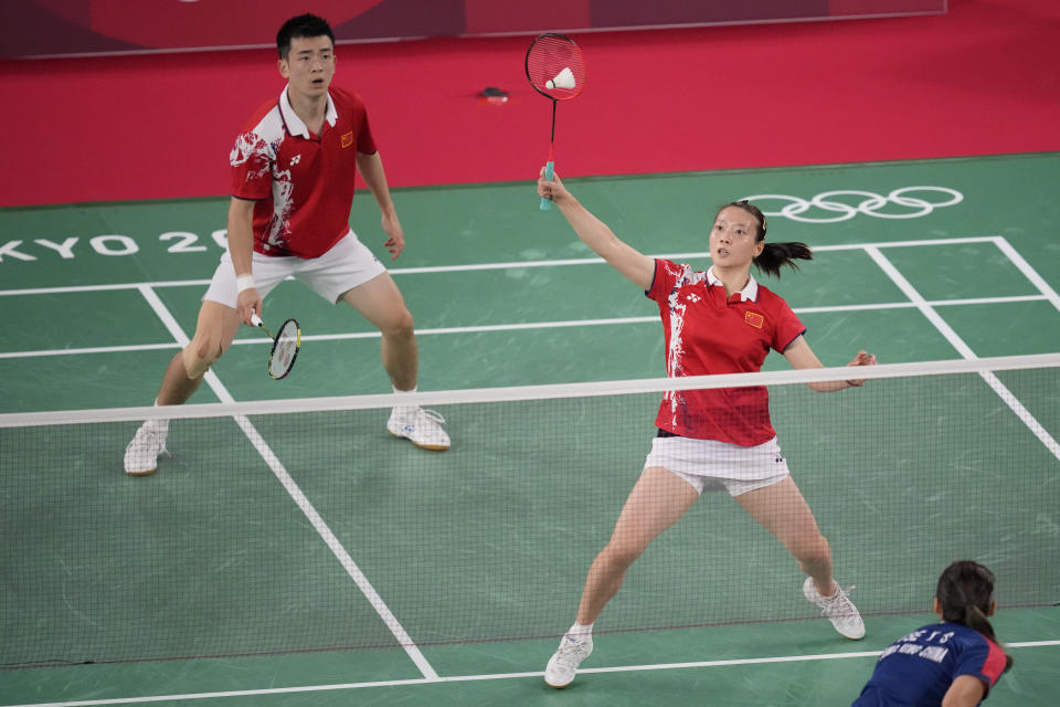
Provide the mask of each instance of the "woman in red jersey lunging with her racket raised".
[{"label": "woman in red jersey lunging with her racket raised", "polygon": [[[544,170],[538,193],[551,199],[577,236],[659,306],[667,376],[757,371],[770,349],[794,368],[823,368],[803,337],[806,328],[791,307],[760,285],[751,265],[780,276],[795,258],[808,260],[803,243],[766,243],[765,217],[746,201],[723,207],[710,231],[713,264],[693,271],[651,258],[618,240]],[[850,366],[876,363],[859,351]],[[819,392],[858,387],[863,379],[815,382]],[[704,490],[725,489],[772,532],[808,577],[804,597],[835,629],[852,640],[865,635],[858,610],[831,574],[831,549],[788,474],[770,422],[763,388],[667,392],[644,472],[626,499],[611,540],[590,567],[576,621],[549,661],[544,679],[565,687],[593,650],[592,629],[622,585],[626,570],[660,532],[676,523]]]}]

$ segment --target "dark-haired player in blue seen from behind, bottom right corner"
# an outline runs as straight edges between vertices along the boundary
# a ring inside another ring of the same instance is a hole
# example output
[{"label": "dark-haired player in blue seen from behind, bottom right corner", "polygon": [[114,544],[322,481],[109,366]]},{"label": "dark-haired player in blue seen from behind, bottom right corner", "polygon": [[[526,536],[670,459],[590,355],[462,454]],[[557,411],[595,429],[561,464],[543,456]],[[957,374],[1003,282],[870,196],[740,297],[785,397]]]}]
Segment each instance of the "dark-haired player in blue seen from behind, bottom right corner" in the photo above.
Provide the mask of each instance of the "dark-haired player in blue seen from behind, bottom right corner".
[{"label": "dark-haired player in blue seen from behind, bottom right corner", "polygon": [[942,623],[921,626],[892,643],[852,707],[943,705],[974,707],[1013,666],[994,635],[994,573],[960,560],[935,590]]}]

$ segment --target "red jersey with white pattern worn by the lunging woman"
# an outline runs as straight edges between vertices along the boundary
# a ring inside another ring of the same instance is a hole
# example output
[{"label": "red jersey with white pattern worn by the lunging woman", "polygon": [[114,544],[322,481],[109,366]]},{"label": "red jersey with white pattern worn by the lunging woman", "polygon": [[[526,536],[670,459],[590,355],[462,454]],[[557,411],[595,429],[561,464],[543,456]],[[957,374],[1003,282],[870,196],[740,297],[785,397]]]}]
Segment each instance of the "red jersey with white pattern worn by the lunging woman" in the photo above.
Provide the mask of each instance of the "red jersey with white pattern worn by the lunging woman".
[{"label": "red jersey with white pattern worn by the lunging woman", "polygon": [[[759,371],[770,349],[783,351],[806,331],[787,303],[753,276],[725,298],[724,286],[709,271],[656,260],[645,294],[659,305],[671,378]],[[741,446],[776,436],[763,386],[668,391],[655,424],[680,436]]]}]

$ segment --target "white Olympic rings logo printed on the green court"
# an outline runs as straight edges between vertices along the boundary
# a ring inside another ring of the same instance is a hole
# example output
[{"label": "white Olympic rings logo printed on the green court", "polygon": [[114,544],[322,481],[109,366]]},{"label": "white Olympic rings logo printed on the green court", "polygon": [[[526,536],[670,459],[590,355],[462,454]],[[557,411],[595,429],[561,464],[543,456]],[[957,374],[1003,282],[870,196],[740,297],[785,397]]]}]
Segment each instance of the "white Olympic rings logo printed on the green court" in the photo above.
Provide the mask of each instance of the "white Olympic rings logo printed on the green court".
[{"label": "white Olympic rings logo printed on the green court", "polygon": [[[910,196],[910,192],[936,192],[944,196],[941,200],[929,201],[923,198],[926,197],[924,193],[915,197]],[[860,199],[860,201],[857,203],[847,203],[847,201],[852,200],[836,200],[840,197],[855,197],[856,199]],[[928,215],[935,209],[952,207],[953,204],[964,201],[964,194],[948,187],[902,187],[901,189],[894,189],[886,197],[873,191],[839,189],[819,193],[808,201],[801,197],[789,197],[787,194],[757,194],[744,198],[762,209],[762,213],[767,217],[784,217],[793,221],[802,221],[803,223],[837,223],[839,221],[849,221],[859,213],[877,219],[918,219]],[[782,207],[780,211],[766,211],[762,208],[761,202],[771,200],[786,201],[787,203]],[[881,209],[888,204],[892,204],[892,208],[898,207],[899,210],[882,211]],[[810,209],[835,213],[837,215],[803,215]]]}]

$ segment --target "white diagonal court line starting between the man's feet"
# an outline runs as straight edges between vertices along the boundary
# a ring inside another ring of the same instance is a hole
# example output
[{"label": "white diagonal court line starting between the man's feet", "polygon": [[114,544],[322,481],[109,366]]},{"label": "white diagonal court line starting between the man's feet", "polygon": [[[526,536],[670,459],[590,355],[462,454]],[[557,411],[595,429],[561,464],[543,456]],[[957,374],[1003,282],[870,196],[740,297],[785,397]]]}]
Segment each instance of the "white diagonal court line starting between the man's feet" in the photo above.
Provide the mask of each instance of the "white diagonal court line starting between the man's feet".
[{"label": "white diagonal court line starting between the man's feet", "polygon": [[[177,339],[180,348],[187,347],[190,344],[188,336],[177,323],[177,319],[173,317],[172,313],[170,313],[166,305],[162,304],[162,300],[158,297],[158,294],[146,285],[141,286],[139,291],[150,305],[151,309],[153,309],[158,315],[158,318],[161,319],[166,328],[169,329],[169,333],[174,339]],[[221,402],[235,402],[235,399],[213,371],[206,372],[205,381],[213,390],[214,394],[216,394],[216,397],[221,400]],[[305,495],[305,493],[303,493],[298,484],[295,483],[295,479],[292,478],[290,474],[287,473],[287,469],[284,468],[283,463],[268,446],[262,435],[257,432],[253,423],[251,423],[246,415],[235,415],[233,420],[235,420],[236,424],[240,425],[240,429],[243,430],[243,433],[251,441],[251,444],[262,456],[262,458],[265,460],[265,463],[272,469],[279,483],[283,484],[285,489],[287,489],[287,493],[298,505],[298,508],[301,510],[301,513],[306,516],[309,523],[312,524],[314,529],[320,535],[321,539],[328,546],[328,549],[331,550],[331,553],[335,555],[336,559],[338,559],[342,564],[342,568],[346,570],[347,574],[350,576],[350,579],[357,583],[357,587],[364,594],[364,598],[368,599],[369,603],[371,603],[372,608],[375,610],[375,613],[379,614],[379,618],[383,621],[383,623],[386,624],[386,627],[390,629],[390,632],[394,635],[398,644],[404,648],[405,653],[409,654],[409,657],[413,663],[415,663],[416,667],[425,678],[437,678],[438,675],[427,662],[426,656],[424,656],[418,646],[413,643],[412,637],[398,621],[398,618],[393,614],[390,608],[385,604],[383,598],[378,591],[375,591],[375,588],[372,587],[372,583],[361,571],[361,568],[357,566],[357,562],[353,561],[353,558],[350,557],[350,553],[346,551],[346,548],[342,547],[342,544],[339,541],[339,539],[333,532],[331,532],[331,528],[329,528],[324,521],[324,518],[319,513],[317,513],[317,509],[309,502],[309,498]]]}]

